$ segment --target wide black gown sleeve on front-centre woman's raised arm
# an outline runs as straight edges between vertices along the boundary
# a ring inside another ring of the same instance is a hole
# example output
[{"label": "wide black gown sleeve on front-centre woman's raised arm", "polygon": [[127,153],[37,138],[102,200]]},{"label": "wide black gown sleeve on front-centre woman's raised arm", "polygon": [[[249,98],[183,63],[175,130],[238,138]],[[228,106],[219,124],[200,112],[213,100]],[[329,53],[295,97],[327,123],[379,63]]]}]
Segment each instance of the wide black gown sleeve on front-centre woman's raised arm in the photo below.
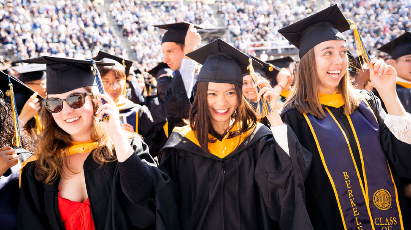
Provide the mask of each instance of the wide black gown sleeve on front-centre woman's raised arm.
[{"label": "wide black gown sleeve on front-centre woman's raised arm", "polygon": [[312,155],[298,143],[290,127],[287,135],[290,156],[277,143],[264,150],[269,140],[260,140],[262,154],[254,175],[263,197],[262,205],[281,230],[313,229],[305,207],[304,188]]}]

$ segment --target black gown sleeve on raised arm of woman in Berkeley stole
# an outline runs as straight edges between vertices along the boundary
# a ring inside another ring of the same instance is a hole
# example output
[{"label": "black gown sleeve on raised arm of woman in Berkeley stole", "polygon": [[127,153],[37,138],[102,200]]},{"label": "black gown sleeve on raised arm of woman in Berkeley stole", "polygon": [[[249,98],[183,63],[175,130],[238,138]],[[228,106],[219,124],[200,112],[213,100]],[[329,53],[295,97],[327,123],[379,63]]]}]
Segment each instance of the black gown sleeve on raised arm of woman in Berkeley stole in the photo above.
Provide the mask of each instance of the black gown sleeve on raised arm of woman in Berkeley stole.
[{"label": "black gown sleeve on raised arm of woman in Berkeley stole", "polygon": [[411,145],[398,140],[388,129],[384,120],[387,113],[381,105],[381,100],[369,90],[362,90],[361,94],[368,101],[380,126],[380,142],[387,156],[391,168],[399,177],[411,179]]}]

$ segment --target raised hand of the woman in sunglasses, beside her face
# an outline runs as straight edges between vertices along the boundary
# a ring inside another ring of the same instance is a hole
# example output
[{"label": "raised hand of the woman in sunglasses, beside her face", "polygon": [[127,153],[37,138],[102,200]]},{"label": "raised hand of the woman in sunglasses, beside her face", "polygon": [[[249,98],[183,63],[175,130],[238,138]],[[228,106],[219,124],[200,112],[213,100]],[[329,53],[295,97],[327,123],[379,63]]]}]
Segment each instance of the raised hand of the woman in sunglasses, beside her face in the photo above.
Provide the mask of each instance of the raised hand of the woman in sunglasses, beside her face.
[{"label": "raised hand of the woman in sunglasses, beside her face", "polygon": [[[113,99],[109,95],[104,94],[97,94],[97,96],[106,100],[104,105],[102,105],[101,99],[93,100],[95,103],[99,104],[96,114],[101,120],[101,126],[109,133],[110,136],[121,133],[122,127],[119,116],[120,112],[115,106]],[[109,115],[109,120],[103,121],[103,115],[105,113]]]}]

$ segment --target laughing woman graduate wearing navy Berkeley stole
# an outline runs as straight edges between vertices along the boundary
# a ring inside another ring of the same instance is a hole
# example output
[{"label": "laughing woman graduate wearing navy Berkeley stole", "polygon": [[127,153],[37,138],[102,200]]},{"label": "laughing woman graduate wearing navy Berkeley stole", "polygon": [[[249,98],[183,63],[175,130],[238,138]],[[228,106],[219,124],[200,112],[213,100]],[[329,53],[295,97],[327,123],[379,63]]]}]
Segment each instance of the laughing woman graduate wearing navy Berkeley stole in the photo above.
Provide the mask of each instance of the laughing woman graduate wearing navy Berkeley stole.
[{"label": "laughing woman graduate wearing navy Berkeley stole", "polygon": [[[349,82],[347,41],[355,24],[337,5],[279,30],[300,48],[300,66],[281,116],[312,153],[305,181],[314,229],[411,229],[404,189],[411,178],[411,115],[395,92],[395,69],[369,60],[370,79],[387,105]],[[367,56],[365,49],[363,55]]]}]

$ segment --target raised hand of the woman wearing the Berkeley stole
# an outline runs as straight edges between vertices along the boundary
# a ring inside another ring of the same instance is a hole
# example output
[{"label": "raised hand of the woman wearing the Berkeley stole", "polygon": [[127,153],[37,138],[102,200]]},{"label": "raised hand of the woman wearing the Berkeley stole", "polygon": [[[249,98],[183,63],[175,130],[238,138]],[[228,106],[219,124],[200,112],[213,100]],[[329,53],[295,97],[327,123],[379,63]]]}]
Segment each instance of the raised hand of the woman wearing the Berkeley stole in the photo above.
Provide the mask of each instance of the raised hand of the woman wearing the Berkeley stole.
[{"label": "raised hand of the woman wearing the Berkeley stole", "polygon": [[369,67],[369,79],[379,94],[392,93],[395,92],[397,84],[397,71],[391,65],[384,63],[383,60],[374,58]]}]

